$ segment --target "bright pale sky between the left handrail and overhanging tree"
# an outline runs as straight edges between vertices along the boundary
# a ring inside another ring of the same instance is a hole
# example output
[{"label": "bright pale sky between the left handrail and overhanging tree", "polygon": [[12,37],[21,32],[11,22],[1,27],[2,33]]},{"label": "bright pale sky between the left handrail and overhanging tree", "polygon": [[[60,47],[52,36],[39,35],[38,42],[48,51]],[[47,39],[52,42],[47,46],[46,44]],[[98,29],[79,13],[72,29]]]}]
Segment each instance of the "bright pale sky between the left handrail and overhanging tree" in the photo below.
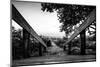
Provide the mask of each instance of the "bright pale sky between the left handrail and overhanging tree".
[{"label": "bright pale sky between the left handrail and overhanging tree", "polygon": [[[13,4],[38,35],[61,38],[65,36],[64,32],[60,32],[61,23],[58,21],[56,12],[43,12],[41,3],[13,2]],[[21,28],[13,20],[12,25],[16,29]]]}]

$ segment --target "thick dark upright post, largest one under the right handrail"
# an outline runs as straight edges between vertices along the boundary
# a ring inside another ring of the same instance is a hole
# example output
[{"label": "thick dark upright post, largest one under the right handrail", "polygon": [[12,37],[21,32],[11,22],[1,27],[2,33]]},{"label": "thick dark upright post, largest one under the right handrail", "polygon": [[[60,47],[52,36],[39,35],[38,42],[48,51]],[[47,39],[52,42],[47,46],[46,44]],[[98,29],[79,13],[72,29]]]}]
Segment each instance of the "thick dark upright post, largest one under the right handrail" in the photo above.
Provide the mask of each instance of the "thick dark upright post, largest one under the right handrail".
[{"label": "thick dark upright post, largest one under the right handrail", "polygon": [[80,33],[80,38],[81,38],[81,55],[85,55],[85,49],[86,49],[86,37],[85,37],[85,30],[83,30]]}]

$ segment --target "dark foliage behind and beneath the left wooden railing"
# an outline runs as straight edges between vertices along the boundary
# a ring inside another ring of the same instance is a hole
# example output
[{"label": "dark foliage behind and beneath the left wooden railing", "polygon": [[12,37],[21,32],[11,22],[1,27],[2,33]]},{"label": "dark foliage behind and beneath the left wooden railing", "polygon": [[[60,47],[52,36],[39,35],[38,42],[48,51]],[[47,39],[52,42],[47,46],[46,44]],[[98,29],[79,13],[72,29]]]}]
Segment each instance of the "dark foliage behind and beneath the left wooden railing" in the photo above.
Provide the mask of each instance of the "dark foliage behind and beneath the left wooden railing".
[{"label": "dark foliage behind and beneath the left wooden railing", "polygon": [[[25,45],[23,41],[22,29],[16,30],[12,27],[12,58],[15,59],[24,59],[25,57]],[[42,38],[42,36],[40,36]],[[51,46],[51,42],[47,38],[42,38],[47,46]],[[32,35],[30,36],[30,41],[27,46],[28,57],[37,57],[39,55],[39,50],[43,51],[43,54],[46,53],[45,47],[41,46],[41,43],[37,41]]]}]

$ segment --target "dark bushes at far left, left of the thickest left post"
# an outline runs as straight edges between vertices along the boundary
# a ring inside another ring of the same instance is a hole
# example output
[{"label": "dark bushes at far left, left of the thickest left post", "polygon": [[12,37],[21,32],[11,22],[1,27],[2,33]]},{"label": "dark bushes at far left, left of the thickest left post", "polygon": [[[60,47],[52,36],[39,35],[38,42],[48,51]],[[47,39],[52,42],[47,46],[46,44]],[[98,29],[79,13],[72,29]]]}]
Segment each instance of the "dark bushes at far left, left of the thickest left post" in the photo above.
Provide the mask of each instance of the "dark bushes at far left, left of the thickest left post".
[{"label": "dark bushes at far left, left of the thickest left post", "polygon": [[23,38],[21,29],[16,30],[12,27],[12,59],[23,58]]}]

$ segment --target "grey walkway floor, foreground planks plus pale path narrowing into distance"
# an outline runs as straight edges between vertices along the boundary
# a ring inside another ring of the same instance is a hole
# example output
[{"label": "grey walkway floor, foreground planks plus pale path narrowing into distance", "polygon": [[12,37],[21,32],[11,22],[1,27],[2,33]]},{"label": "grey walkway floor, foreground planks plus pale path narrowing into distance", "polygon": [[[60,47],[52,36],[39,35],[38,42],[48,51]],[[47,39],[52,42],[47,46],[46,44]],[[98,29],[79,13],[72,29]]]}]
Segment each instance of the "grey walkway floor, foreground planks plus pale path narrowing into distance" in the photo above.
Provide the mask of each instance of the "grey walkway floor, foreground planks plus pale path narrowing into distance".
[{"label": "grey walkway floor, foreground planks plus pale path narrowing into distance", "polygon": [[[51,40],[51,47],[49,47],[47,56],[31,57],[28,59],[14,60],[14,66],[24,65],[41,65],[41,64],[54,64],[54,63],[72,63],[72,62],[89,62],[96,61],[95,55],[67,55],[62,48],[57,46]],[[54,53],[54,54],[53,54]]]}]

